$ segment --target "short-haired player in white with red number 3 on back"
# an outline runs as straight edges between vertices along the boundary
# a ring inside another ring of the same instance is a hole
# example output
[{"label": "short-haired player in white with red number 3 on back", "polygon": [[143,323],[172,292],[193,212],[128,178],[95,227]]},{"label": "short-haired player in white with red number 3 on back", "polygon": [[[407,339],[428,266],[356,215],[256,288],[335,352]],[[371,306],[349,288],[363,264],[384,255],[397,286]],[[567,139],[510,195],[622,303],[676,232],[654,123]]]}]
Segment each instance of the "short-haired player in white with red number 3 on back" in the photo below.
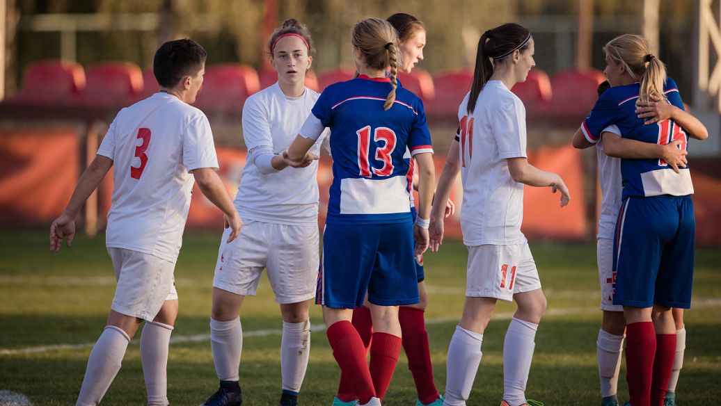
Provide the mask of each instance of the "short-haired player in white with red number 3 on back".
[{"label": "short-haired player in white with red number 3 on back", "polygon": [[65,211],[50,226],[50,251],[59,251],[65,238],[70,247],[80,207],[113,168],[106,245],[118,286],[105,330],[88,359],[79,406],[102,400],[143,320],[140,349],[148,405],[168,405],[168,345],[178,311],[173,271],[193,179],[224,212],[228,240],[238,236],[242,225],[215,171],[208,119],[190,106],[203,85],[205,50],[193,40],[165,42],[155,53],[153,71],[161,90],[120,110]]}]

